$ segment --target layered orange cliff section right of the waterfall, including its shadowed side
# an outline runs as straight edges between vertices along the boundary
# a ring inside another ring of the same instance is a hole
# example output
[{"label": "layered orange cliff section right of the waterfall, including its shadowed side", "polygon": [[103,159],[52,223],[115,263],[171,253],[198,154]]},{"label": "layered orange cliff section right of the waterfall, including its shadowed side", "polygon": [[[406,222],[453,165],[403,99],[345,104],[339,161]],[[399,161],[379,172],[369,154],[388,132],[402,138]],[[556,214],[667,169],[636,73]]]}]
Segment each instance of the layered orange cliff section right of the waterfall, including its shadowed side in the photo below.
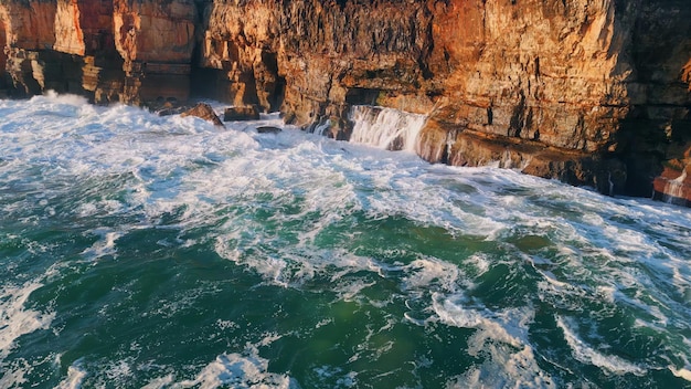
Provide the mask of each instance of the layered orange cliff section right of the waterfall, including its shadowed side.
[{"label": "layered orange cliff section right of the waterfall, including its shadowed side", "polygon": [[684,2],[437,7],[430,70],[448,77],[422,136],[424,158],[491,158],[605,193],[650,196],[669,154],[688,149]]}]

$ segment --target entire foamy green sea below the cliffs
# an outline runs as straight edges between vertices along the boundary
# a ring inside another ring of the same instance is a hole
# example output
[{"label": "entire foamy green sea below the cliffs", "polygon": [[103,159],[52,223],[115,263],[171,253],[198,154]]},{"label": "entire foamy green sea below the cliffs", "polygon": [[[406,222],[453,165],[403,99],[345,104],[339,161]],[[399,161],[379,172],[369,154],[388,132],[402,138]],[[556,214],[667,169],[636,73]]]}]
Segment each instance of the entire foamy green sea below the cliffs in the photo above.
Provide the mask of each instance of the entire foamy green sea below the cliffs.
[{"label": "entire foamy green sea below the cliffs", "polygon": [[0,388],[691,387],[690,209],[257,125],[0,101]]}]

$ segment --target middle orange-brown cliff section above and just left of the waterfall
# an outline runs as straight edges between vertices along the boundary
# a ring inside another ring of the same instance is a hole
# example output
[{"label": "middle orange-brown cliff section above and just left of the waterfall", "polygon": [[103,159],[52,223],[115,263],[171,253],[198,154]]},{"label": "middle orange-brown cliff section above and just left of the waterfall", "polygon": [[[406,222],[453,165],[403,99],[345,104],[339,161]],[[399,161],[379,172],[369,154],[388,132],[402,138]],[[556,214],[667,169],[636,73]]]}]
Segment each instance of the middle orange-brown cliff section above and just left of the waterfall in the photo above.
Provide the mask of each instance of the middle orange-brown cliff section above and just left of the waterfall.
[{"label": "middle orange-brown cliff section above and just left of the waterfall", "polygon": [[341,138],[349,103],[381,91],[432,106],[421,93],[433,46],[424,2],[214,1],[204,15],[199,64],[220,81],[208,93],[281,107],[304,126],[330,123]]}]

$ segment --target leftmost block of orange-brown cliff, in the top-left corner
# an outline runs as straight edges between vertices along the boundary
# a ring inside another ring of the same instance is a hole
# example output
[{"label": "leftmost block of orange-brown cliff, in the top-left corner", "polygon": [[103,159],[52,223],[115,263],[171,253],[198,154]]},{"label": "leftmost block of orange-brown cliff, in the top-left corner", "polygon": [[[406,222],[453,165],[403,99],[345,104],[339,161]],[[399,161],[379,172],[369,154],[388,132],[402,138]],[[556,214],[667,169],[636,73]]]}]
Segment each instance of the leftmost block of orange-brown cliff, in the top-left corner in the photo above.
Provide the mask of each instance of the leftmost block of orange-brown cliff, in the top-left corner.
[{"label": "leftmost block of orange-brown cliff, in the top-left corner", "polygon": [[124,80],[111,18],[111,1],[0,1],[9,94],[55,90],[118,101]]}]

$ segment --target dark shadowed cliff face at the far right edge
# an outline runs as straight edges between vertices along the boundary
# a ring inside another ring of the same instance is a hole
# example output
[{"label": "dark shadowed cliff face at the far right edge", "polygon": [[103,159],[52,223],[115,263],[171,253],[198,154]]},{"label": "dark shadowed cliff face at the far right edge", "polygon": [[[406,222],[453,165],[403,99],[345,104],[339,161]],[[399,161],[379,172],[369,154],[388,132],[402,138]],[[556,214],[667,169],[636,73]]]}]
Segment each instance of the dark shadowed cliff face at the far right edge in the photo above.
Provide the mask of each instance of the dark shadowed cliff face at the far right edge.
[{"label": "dark shadowed cliff face at the far right edge", "polygon": [[625,81],[630,108],[615,154],[627,167],[624,193],[651,197],[655,178],[669,167],[683,169],[679,161],[691,146],[691,90],[682,76],[691,61],[691,9],[685,1],[644,1],[636,14],[623,59],[631,70]]}]

